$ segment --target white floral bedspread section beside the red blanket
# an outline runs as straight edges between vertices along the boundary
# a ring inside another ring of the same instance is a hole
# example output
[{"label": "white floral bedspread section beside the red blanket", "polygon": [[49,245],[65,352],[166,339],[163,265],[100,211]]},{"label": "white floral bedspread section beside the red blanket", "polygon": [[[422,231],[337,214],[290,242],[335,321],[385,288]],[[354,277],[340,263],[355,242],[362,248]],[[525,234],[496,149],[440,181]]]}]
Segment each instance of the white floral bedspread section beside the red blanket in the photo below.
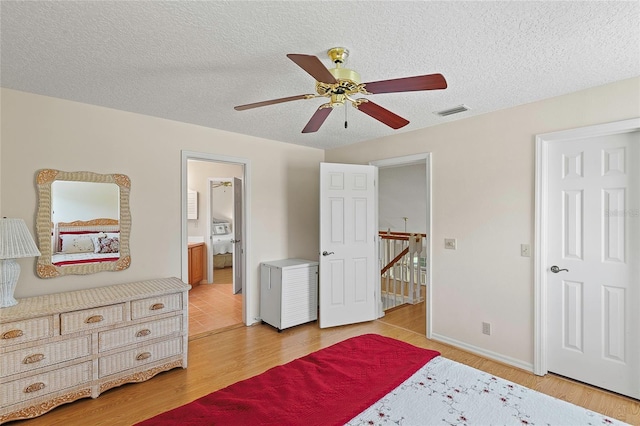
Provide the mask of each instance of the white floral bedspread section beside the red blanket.
[{"label": "white floral bedspread section beside the red blanket", "polygon": [[347,424],[626,425],[442,356]]}]

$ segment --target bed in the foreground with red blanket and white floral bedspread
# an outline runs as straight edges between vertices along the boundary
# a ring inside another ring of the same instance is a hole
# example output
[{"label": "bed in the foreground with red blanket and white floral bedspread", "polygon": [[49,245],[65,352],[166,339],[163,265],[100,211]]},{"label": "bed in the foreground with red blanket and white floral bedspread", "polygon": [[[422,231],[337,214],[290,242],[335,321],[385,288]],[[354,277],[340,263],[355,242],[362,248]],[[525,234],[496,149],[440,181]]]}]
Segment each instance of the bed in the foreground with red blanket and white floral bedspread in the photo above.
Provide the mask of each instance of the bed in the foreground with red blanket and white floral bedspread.
[{"label": "bed in the foreground with red blanket and white floral bedspread", "polygon": [[377,334],[344,340],[159,414],[162,425],[624,425]]}]

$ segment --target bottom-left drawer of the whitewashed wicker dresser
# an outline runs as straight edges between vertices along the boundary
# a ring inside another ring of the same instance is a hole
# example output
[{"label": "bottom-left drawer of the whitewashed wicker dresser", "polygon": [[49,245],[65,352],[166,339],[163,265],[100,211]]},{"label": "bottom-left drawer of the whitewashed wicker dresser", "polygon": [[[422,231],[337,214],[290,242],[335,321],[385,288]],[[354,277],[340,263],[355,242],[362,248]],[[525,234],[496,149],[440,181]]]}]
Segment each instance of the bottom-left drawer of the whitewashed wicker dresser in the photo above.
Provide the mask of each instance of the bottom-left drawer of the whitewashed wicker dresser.
[{"label": "bottom-left drawer of the whitewashed wicker dresser", "polygon": [[37,398],[91,381],[91,361],[0,384],[0,406]]}]

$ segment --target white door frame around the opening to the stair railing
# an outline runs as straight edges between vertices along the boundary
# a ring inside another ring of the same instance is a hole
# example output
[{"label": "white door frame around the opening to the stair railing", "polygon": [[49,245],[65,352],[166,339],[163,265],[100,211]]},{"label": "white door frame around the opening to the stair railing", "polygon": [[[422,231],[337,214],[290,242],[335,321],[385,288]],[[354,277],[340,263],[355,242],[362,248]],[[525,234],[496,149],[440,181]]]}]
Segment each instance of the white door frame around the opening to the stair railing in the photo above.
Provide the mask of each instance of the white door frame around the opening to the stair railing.
[{"label": "white door frame around the opening to the stair railing", "polygon": [[[433,240],[433,212],[432,212],[432,198],[431,198],[431,194],[432,194],[432,185],[433,185],[433,178],[432,178],[432,166],[431,166],[431,160],[432,159],[432,154],[430,152],[425,152],[422,154],[413,154],[413,155],[406,155],[406,156],[402,156],[402,157],[393,157],[393,158],[385,158],[383,160],[376,160],[376,161],[370,161],[369,164],[372,166],[377,166],[378,168],[381,167],[389,167],[389,166],[411,166],[414,164],[424,164],[425,165],[425,172],[426,172],[426,179],[427,179],[427,183],[425,185],[425,189],[426,189],[426,193],[425,193],[425,202],[427,203],[427,208],[426,208],[426,212],[427,212],[427,217],[425,218],[426,220],[426,230],[427,230],[427,244],[426,244],[426,248],[427,248],[427,276],[426,276],[426,288],[425,288],[425,297],[426,297],[426,312],[425,312],[425,321],[427,322],[427,339],[431,339],[431,336],[433,334],[433,329],[432,329],[432,314],[433,314],[433,309],[431,306],[431,301],[433,300],[432,297],[432,285],[431,285],[431,274],[433,271],[433,259],[431,256],[432,253],[432,240]],[[379,185],[378,185],[379,187]]]}]

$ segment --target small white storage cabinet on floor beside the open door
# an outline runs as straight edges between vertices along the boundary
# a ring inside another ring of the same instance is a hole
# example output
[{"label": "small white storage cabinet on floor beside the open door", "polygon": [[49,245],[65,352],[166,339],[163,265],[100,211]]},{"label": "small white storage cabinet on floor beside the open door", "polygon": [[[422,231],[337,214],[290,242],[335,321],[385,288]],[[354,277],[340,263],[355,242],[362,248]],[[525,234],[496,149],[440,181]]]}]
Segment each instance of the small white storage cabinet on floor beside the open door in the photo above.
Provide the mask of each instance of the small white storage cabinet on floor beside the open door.
[{"label": "small white storage cabinet on floor beside the open door", "polygon": [[260,265],[260,317],[281,332],[318,319],[318,262],[284,259]]}]

